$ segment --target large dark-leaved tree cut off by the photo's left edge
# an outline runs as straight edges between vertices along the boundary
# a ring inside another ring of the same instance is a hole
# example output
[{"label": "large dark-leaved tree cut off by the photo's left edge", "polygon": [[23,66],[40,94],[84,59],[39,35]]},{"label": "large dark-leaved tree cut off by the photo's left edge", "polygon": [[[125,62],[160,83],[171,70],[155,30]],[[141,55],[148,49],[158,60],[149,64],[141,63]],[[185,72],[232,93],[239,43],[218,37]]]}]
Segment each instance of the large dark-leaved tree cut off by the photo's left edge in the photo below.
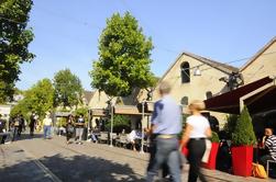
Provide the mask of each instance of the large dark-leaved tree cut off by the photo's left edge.
[{"label": "large dark-leaved tree cut off by the photo's left edge", "polygon": [[0,103],[12,100],[20,65],[34,58],[27,49],[34,35],[26,26],[32,4],[32,0],[0,3]]}]

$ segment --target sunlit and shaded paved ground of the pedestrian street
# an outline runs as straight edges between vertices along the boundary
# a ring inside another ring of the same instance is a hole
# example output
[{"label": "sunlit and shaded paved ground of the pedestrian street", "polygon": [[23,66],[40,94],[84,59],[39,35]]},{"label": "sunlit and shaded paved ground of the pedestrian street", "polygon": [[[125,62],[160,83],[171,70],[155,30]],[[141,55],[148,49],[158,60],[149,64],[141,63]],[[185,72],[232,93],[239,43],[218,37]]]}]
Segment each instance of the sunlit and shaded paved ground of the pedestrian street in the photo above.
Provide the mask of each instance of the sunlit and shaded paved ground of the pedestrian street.
[{"label": "sunlit and shaded paved ground of the pedestrian street", "polygon": [[[104,144],[65,143],[41,135],[0,146],[0,182],[119,182],[144,181],[147,153],[110,147]],[[183,170],[187,181],[188,166]],[[268,181],[203,170],[208,181]],[[276,181],[271,180],[269,181]]]}]

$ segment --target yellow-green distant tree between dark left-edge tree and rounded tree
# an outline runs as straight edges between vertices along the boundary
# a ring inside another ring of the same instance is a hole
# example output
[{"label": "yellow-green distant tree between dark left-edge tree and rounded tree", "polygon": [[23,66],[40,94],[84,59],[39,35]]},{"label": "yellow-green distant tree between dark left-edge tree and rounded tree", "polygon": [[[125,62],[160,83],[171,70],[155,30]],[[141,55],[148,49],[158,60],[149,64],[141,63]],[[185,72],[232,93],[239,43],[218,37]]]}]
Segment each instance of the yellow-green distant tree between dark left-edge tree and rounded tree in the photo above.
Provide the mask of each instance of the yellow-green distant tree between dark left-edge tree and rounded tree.
[{"label": "yellow-green distant tree between dark left-edge tree and rounded tree", "polygon": [[36,112],[41,117],[43,117],[46,111],[53,109],[53,84],[49,79],[43,79],[25,91],[24,99],[12,109],[11,115],[14,116],[19,113],[27,115],[27,113]]}]

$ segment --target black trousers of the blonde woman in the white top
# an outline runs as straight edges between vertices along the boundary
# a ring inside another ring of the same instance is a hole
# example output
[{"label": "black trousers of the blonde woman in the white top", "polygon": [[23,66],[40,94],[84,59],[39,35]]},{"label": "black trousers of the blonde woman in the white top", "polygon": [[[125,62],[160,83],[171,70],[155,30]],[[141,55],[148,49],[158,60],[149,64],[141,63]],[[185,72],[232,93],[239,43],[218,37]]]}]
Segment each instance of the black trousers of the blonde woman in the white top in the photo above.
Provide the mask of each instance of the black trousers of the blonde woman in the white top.
[{"label": "black trousers of the blonde woman in the white top", "polygon": [[206,150],[205,139],[190,139],[188,143],[188,160],[190,164],[188,182],[196,182],[198,177],[200,181],[207,181],[205,175],[200,171],[201,159]]}]

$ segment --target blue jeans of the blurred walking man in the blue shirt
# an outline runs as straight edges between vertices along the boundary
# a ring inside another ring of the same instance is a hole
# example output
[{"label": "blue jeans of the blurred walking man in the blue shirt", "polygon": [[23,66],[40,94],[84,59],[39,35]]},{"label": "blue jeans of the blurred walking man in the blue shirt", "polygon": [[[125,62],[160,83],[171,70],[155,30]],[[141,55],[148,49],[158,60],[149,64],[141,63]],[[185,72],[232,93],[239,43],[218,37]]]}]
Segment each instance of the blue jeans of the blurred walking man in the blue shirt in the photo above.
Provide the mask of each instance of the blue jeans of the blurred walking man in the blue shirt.
[{"label": "blue jeans of the blurred walking man in the blue shirt", "polygon": [[156,138],[156,153],[152,166],[148,168],[146,181],[152,182],[154,177],[157,175],[158,170],[164,163],[167,163],[169,173],[174,182],[180,182],[180,160],[178,151],[177,138]]}]

